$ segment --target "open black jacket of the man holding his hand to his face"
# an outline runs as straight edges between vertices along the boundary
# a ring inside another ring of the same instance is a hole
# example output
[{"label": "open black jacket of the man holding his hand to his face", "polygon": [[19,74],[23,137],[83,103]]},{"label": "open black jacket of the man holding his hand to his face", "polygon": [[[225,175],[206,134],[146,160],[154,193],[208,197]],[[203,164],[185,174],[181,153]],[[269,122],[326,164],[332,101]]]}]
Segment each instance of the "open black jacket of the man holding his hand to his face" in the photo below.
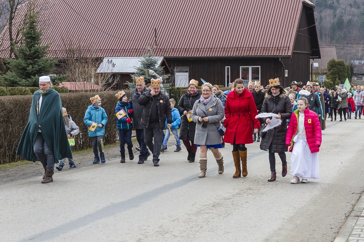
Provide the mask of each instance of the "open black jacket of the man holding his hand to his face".
[{"label": "open black jacket of the man holding his hand to his face", "polygon": [[[172,124],[172,109],[168,97],[159,93],[157,96],[157,109],[160,129],[165,128],[165,118],[167,118],[167,124]],[[143,106],[142,119],[140,125],[149,128],[149,118],[151,106],[153,103],[153,97],[150,92],[143,92],[138,99],[139,105]]]}]

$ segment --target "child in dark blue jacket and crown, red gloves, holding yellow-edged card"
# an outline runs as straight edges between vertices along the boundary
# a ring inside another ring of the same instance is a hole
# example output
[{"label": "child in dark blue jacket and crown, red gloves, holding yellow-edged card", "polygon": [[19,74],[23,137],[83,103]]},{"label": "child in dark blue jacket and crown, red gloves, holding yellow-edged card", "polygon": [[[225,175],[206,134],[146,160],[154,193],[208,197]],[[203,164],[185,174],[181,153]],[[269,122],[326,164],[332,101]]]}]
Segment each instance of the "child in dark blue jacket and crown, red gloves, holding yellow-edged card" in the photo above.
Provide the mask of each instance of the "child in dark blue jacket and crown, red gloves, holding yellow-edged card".
[{"label": "child in dark blue jacket and crown, red gloves, holding yellow-edged card", "polygon": [[128,102],[128,97],[124,91],[115,94],[118,99],[115,107],[116,126],[119,130],[120,163],[125,163],[125,143],[128,147],[129,159],[134,159],[132,152],[132,103]]}]

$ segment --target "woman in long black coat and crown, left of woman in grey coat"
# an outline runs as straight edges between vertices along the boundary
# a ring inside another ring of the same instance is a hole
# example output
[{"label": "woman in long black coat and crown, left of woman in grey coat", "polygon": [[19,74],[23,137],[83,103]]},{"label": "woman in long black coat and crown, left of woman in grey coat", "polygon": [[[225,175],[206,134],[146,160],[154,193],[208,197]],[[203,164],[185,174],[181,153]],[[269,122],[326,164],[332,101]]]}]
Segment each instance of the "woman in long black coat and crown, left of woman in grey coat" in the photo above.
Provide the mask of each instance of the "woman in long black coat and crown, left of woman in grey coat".
[{"label": "woman in long black coat and crown, left of woman in grey coat", "polygon": [[197,90],[198,86],[199,81],[192,79],[188,84],[186,93],[182,95],[177,106],[177,109],[183,114],[181,117],[180,139],[187,149],[187,161],[190,163],[195,162],[197,151],[197,146],[194,143],[196,123],[192,121],[191,113],[195,102],[201,97]]}]

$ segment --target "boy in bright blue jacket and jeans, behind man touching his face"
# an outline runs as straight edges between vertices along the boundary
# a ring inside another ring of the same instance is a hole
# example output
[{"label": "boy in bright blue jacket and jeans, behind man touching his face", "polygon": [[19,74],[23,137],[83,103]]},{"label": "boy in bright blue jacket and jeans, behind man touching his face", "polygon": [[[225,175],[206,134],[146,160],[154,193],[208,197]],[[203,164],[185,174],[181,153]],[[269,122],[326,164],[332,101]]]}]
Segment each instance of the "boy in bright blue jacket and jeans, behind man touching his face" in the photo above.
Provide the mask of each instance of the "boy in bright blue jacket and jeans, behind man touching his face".
[{"label": "boy in bright blue jacket and jeans, behind man touching his face", "polygon": [[[176,138],[176,150],[174,152],[178,152],[181,151],[181,141],[180,141],[180,137],[178,136],[178,126],[181,124],[181,116],[180,116],[180,112],[178,111],[178,109],[176,109],[174,107],[174,105],[176,105],[176,100],[171,98],[169,99],[169,103],[171,104],[171,109],[172,109],[172,126],[171,126],[171,131],[174,135],[174,137]],[[161,152],[165,152],[165,150],[167,150],[167,142],[170,136],[170,132],[169,129],[167,128],[167,119],[165,119],[165,139],[163,141],[162,144],[162,149]]]}]

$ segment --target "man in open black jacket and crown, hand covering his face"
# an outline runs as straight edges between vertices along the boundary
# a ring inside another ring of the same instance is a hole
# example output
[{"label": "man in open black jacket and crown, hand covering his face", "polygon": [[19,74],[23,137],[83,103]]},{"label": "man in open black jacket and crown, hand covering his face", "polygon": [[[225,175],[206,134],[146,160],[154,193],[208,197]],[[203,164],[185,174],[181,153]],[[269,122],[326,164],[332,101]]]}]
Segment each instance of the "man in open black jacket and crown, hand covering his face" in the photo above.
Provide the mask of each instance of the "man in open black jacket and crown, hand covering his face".
[{"label": "man in open black jacket and crown, hand covering his face", "polygon": [[170,128],[172,109],[169,98],[160,92],[161,80],[151,79],[150,83],[150,92],[142,93],[138,99],[139,105],[143,106],[140,124],[144,127],[144,141],[153,153],[153,164],[159,166],[165,118],[167,119],[167,127]]}]

